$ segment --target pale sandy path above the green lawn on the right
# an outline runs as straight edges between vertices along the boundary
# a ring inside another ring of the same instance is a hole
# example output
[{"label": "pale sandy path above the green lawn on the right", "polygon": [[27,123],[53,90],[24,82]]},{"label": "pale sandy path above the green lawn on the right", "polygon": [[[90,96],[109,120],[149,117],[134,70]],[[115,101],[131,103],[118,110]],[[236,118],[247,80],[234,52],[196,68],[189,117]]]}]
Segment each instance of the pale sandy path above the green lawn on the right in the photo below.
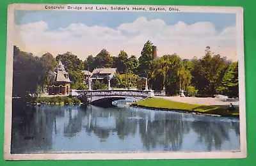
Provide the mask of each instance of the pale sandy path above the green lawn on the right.
[{"label": "pale sandy path above the green lawn on the right", "polygon": [[191,103],[198,105],[227,105],[230,103],[234,107],[239,107],[238,99],[227,99],[223,98],[195,98],[195,97],[180,97],[180,96],[156,96],[157,98],[164,98],[166,100],[172,100],[173,102]]}]

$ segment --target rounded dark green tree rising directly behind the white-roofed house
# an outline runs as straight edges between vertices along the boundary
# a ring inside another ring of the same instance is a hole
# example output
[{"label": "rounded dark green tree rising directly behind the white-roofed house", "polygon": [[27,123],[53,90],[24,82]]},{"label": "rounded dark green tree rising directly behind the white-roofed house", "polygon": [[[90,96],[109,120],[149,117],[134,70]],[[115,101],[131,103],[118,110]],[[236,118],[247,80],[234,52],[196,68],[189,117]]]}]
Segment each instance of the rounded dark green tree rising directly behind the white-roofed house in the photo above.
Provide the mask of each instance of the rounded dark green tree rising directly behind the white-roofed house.
[{"label": "rounded dark green tree rising directly behind the white-roofed house", "polygon": [[[113,58],[106,49],[102,49],[97,56],[95,56],[92,63],[92,68],[111,68],[113,65]],[[93,70],[92,69],[92,70]]]}]

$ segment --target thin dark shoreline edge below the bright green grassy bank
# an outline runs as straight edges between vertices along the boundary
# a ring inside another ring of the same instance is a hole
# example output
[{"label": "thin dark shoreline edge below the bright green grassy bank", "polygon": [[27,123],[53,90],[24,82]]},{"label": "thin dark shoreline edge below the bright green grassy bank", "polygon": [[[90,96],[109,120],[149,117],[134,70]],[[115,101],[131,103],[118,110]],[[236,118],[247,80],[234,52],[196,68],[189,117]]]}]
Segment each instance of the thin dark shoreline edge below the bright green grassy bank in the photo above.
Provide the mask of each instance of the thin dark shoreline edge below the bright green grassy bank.
[{"label": "thin dark shoreline edge below the bright green grassy bank", "polygon": [[239,118],[239,115],[220,115],[220,114],[207,114],[204,112],[198,112],[195,110],[184,110],[184,109],[164,109],[164,108],[156,108],[156,107],[147,107],[136,104],[131,104],[130,107],[138,108],[138,109],[149,109],[149,110],[161,110],[161,111],[170,111],[170,112],[179,112],[184,114],[194,114],[200,116],[214,116],[214,117],[236,117]]}]

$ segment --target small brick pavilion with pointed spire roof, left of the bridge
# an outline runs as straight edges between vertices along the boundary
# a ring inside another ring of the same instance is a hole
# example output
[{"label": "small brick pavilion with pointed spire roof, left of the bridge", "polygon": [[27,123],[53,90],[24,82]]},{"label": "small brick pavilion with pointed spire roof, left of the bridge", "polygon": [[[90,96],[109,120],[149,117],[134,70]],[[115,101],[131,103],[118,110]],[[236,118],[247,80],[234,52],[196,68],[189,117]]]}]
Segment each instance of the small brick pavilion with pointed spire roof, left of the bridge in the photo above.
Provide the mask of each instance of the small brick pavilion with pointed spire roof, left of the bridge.
[{"label": "small brick pavilion with pointed spire roof, left of the bridge", "polygon": [[48,94],[67,95],[70,93],[70,83],[68,72],[66,72],[65,66],[61,61],[59,61],[58,66],[51,75],[48,85]]}]

